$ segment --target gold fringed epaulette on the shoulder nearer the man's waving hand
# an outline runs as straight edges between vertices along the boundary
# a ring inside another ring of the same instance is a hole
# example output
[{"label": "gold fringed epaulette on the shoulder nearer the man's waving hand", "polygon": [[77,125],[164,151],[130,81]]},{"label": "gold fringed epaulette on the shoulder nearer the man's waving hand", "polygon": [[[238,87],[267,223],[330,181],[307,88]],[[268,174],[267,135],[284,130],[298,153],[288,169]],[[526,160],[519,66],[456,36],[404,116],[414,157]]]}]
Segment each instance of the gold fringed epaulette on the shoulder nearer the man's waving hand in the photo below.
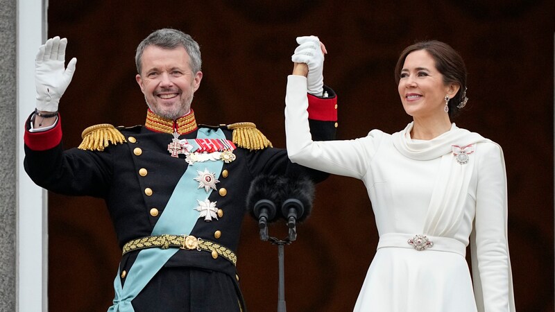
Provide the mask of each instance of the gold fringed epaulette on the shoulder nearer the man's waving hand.
[{"label": "gold fringed epaulette on the shoulder nearer the man's waving hand", "polygon": [[99,125],[91,125],[83,130],[81,134],[83,142],[79,145],[80,150],[104,150],[111,144],[123,144],[126,137],[109,123],[101,123]]}]

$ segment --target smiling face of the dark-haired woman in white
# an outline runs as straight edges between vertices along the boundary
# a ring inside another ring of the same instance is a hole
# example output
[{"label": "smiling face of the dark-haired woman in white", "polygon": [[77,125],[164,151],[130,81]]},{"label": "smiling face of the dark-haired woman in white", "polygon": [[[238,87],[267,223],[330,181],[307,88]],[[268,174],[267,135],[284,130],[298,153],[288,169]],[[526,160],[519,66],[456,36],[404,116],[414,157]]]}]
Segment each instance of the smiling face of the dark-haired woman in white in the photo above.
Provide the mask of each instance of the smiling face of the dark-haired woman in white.
[{"label": "smiling face of the dark-haired woman in white", "polygon": [[436,62],[425,50],[413,51],[404,60],[398,85],[405,112],[413,118],[447,115],[445,95],[452,98],[453,86],[444,85]]}]

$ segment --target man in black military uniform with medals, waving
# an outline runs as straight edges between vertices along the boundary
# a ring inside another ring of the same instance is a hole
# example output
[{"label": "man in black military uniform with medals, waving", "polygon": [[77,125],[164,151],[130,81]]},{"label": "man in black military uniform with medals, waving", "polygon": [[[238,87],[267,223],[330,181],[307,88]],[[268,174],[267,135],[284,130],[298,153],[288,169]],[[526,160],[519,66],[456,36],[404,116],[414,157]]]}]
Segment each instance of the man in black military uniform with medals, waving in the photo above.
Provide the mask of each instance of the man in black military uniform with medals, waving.
[{"label": "man in black military uniform with medals, waving", "polygon": [[[145,124],[94,125],[79,148],[62,150],[58,103],[76,67],[73,58],[64,68],[66,45],[54,37],[37,53],[25,168],[45,189],[105,200],[123,250],[108,311],[246,311],[235,252],[250,181],[307,174],[317,182],[325,175],[291,164],[253,123],[198,125],[191,103],[203,78],[200,49],[168,28],[137,47]],[[336,98],[321,71],[311,74],[314,93],[327,93],[308,95],[312,130],[332,139]]]}]

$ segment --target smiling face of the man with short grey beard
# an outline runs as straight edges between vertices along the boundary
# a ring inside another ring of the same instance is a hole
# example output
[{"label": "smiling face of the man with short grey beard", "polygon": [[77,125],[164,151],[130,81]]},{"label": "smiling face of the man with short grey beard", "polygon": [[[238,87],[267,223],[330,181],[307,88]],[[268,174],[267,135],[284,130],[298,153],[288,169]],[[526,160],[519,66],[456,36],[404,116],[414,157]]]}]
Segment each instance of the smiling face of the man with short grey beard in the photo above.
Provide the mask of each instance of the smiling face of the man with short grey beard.
[{"label": "smiling face of the man with short grey beard", "polygon": [[187,114],[203,73],[191,71],[185,48],[147,46],[141,64],[141,73],[135,78],[148,108],[166,119],[178,119]]}]

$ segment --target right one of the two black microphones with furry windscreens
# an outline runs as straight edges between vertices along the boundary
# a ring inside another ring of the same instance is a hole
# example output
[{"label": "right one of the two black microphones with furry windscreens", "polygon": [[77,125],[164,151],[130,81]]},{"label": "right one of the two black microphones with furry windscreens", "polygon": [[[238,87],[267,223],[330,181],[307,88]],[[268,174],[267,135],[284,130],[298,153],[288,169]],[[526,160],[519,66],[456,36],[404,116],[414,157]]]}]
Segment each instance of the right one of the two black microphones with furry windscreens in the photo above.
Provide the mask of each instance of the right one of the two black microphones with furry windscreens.
[{"label": "right one of the two black microphones with furry windscreens", "polygon": [[289,240],[297,239],[297,223],[306,220],[312,210],[314,201],[314,182],[308,177],[284,177],[284,201],[282,203],[282,216],[287,220],[289,227]]}]

